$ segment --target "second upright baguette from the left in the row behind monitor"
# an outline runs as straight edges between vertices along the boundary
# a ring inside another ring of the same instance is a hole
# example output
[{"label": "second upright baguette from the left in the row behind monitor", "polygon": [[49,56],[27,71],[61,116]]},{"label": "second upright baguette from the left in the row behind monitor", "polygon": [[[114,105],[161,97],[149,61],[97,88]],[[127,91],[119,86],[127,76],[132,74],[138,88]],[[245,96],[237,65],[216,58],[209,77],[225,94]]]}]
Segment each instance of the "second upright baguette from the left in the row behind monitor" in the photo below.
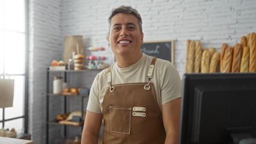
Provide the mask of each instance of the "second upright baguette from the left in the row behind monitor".
[{"label": "second upright baguette from the left in the row behind monitor", "polygon": [[202,57],[202,46],[200,41],[197,41],[195,45],[195,62],[194,62],[194,73],[200,73],[200,64]]}]

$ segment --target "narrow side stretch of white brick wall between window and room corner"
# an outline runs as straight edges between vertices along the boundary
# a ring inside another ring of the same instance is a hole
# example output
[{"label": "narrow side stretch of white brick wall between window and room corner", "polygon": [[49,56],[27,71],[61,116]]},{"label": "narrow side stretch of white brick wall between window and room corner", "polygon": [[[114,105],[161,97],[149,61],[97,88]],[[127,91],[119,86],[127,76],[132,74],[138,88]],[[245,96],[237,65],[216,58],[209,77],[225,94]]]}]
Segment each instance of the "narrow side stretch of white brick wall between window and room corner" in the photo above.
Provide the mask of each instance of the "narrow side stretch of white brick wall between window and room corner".
[{"label": "narrow side stretch of white brick wall between window and room corner", "polygon": [[61,59],[61,0],[29,1],[29,133],[46,143],[46,68]]}]

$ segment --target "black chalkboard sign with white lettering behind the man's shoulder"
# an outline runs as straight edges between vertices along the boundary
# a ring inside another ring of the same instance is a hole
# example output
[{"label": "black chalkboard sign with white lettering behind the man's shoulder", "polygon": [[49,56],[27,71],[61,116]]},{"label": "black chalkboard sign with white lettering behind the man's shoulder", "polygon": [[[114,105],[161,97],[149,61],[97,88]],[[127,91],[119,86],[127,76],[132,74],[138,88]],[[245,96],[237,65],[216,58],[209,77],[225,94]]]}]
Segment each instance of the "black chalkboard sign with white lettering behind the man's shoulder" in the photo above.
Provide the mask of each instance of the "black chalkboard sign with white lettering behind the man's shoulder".
[{"label": "black chalkboard sign with white lettering behind the man's shoulder", "polygon": [[148,41],[141,45],[141,52],[174,64],[174,41]]}]

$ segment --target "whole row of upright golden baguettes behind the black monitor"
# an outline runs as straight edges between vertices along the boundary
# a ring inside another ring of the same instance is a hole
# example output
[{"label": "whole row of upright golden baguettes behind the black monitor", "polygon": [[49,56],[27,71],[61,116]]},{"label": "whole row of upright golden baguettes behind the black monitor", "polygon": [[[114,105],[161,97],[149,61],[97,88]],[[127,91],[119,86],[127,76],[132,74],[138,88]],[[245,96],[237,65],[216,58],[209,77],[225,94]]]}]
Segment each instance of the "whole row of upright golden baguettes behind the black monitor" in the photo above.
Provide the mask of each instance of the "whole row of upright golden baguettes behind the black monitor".
[{"label": "whole row of upright golden baguettes behind the black monitor", "polygon": [[241,38],[234,47],[224,43],[221,53],[213,47],[202,49],[201,42],[187,40],[186,73],[246,73],[256,72],[256,34]]}]

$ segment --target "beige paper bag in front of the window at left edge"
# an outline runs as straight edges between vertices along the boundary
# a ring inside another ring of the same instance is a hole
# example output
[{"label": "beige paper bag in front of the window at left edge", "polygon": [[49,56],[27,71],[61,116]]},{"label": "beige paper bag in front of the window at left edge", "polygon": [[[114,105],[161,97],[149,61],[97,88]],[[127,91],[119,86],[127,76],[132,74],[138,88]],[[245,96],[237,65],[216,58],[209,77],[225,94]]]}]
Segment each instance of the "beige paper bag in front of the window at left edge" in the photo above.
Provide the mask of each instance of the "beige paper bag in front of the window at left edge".
[{"label": "beige paper bag in front of the window at left edge", "polygon": [[0,108],[13,107],[14,80],[0,79]]}]

